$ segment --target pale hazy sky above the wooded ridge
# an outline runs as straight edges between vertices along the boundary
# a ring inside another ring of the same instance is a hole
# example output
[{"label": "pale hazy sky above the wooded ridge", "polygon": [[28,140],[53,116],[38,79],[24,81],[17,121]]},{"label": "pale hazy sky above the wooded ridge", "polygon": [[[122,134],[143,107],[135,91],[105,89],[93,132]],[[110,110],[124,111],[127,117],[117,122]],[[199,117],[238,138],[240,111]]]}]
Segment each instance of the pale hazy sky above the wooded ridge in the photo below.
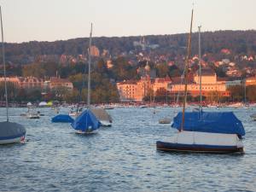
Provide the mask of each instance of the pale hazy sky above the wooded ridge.
[{"label": "pale hazy sky above the wooded ridge", "polygon": [[0,0],[6,42],[256,29],[256,0]]}]

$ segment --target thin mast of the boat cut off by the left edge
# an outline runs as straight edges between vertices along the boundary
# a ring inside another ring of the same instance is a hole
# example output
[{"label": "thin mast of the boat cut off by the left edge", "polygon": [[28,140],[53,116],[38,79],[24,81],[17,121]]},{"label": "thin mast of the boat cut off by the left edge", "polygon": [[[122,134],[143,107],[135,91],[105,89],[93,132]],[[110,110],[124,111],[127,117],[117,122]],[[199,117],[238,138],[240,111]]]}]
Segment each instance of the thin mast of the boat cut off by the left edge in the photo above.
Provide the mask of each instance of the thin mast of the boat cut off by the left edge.
[{"label": "thin mast of the boat cut off by the left edge", "polygon": [[1,6],[0,6],[0,17],[1,17],[1,32],[2,32],[2,54],[3,54],[3,75],[4,75],[6,120],[9,121],[9,112],[8,112],[9,105],[8,105],[8,95],[7,95],[6,67],[5,67],[5,55],[4,55],[4,43],[3,43],[3,20],[2,20]]}]

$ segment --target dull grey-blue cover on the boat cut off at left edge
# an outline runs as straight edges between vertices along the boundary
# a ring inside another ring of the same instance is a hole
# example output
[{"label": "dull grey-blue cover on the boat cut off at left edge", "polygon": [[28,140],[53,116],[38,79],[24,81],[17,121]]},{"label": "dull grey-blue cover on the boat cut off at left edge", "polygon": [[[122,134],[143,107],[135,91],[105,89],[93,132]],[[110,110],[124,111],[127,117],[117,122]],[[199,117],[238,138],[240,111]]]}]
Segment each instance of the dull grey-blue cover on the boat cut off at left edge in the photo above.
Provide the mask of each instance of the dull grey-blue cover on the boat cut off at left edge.
[{"label": "dull grey-blue cover on the boat cut off at left edge", "polygon": [[13,139],[25,136],[24,126],[9,121],[0,122],[0,140]]}]

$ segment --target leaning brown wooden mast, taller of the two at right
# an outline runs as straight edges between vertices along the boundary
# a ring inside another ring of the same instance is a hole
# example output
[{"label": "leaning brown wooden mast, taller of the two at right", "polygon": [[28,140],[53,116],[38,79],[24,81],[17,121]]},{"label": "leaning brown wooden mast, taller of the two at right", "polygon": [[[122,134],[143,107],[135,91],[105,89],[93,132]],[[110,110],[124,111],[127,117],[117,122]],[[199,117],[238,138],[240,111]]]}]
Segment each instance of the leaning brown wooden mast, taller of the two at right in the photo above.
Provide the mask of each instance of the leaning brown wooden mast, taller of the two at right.
[{"label": "leaning brown wooden mast, taller of the two at right", "polygon": [[180,131],[183,131],[183,125],[185,120],[185,107],[187,102],[187,95],[188,95],[188,70],[189,70],[189,59],[191,55],[191,33],[192,33],[192,23],[193,23],[193,12],[194,9],[192,9],[191,14],[191,22],[190,22],[190,32],[189,32],[189,38],[188,38],[188,47],[187,47],[187,57],[185,62],[185,70],[184,70],[184,80],[185,80],[185,93],[183,98],[183,120]]}]

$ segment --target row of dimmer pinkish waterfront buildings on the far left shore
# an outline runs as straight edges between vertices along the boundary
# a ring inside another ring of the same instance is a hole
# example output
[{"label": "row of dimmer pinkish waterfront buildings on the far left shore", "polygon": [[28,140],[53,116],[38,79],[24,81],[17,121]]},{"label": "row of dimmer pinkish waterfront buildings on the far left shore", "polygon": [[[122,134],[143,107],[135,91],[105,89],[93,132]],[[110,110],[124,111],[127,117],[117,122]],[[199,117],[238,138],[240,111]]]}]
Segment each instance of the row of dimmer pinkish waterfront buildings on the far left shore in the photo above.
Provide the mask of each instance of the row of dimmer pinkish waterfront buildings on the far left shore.
[{"label": "row of dimmer pinkish waterfront buildings on the far left shore", "polygon": [[[73,90],[73,83],[68,79],[52,77],[49,80],[38,79],[35,77],[7,77],[7,82],[15,84],[20,89],[50,89],[54,90],[58,87],[65,87],[67,90]],[[0,83],[4,82],[4,78],[0,77]]]}]

